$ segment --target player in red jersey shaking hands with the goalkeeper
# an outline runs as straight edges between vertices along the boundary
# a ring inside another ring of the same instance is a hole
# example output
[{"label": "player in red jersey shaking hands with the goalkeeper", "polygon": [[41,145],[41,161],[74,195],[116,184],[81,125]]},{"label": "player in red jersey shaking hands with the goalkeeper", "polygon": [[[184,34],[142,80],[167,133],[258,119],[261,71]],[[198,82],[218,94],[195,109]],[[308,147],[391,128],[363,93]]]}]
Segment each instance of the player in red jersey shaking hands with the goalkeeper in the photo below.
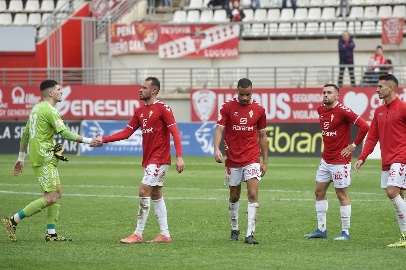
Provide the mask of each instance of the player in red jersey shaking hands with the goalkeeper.
[{"label": "player in red jersey shaking hands with the goalkeeper", "polygon": [[173,112],[168,105],[156,99],[160,86],[160,81],[155,77],[145,79],[140,89],[140,100],[144,100],[145,105],[135,111],[125,130],[103,137],[103,142],[124,140],[139,127],[143,133],[144,177],[139,190],[140,207],[138,208],[137,227],[134,234],[120,240],[122,243],[131,244],[144,241],[143,230],[149,214],[150,198],[155,207],[155,216],[158,219],[161,234],[147,242],[172,242],[166,219],[166,206],[164,197],[162,197],[162,185],[171,164],[169,133],[172,134],[175,144],[175,168],[178,173],[184,170],[185,164],[182,159],[180,134]]}]

